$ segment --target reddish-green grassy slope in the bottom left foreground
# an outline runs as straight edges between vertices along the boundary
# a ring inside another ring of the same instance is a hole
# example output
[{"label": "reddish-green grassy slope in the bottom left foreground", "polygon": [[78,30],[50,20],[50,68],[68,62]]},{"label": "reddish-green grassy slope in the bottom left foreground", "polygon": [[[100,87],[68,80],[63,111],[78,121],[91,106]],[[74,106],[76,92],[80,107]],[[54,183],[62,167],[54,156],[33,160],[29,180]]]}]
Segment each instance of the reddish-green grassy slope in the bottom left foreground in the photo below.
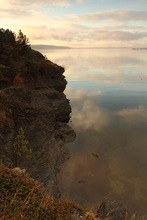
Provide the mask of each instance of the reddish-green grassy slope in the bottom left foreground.
[{"label": "reddish-green grassy slope in the bottom left foreground", "polygon": [[[73,201],[61,201],[45,194],[41,184],[23,172],[0,164],[1,220],[94,220]],[[93,215],[94,216],[94,215]]]}]

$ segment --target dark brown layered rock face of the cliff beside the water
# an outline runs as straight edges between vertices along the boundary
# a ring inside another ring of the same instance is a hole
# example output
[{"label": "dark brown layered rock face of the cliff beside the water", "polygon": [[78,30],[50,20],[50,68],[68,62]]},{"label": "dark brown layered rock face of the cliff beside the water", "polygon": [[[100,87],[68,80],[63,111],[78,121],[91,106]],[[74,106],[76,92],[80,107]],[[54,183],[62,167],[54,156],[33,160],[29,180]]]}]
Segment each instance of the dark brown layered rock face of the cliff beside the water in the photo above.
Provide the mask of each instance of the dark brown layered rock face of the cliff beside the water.
[{"label": "dark brown layered rock face of the cliff beside the water", "polygon": [[74,131],[67,125],[71,106],[63,91],[64,68],[31,50],[31,62],[24,58],[0,64],[0,159],[16,166],[13,142],[20,128],[32,148],[31,160],[19,158],[31,177],[59,197],[56,174],[69,158],[64,143],[73,141]]}]

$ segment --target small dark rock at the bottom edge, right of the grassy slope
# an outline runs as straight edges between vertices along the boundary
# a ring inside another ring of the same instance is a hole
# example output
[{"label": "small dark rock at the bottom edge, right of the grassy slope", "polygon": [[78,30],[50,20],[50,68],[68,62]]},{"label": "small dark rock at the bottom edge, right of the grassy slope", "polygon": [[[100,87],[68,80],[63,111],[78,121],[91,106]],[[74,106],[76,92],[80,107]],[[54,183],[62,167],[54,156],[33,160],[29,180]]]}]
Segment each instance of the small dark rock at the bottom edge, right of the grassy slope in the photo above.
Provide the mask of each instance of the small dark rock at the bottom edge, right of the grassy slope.
[{"label": "small dark rock at the bottom edge, right of the grassy slope", "polygon": [[100,205],[96,218],[103,220],[125,220],[127,216],[128,212],[123,204],[107,198]]}]

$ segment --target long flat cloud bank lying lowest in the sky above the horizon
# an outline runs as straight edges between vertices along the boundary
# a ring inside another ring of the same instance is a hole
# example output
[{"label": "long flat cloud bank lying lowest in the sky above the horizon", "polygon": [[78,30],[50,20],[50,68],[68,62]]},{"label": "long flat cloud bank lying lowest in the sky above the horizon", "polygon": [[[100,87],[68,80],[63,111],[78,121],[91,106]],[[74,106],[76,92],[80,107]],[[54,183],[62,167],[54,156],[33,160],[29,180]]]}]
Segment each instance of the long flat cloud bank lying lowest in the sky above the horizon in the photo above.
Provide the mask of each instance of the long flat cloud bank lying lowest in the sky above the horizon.
[{"label": "long flat cloud bank lying lowest in the sky above the horizon", "polygon": [[[55,21],[54,24],[58,22]],[[92,42],[98,42],[98,41],[134,41],[134,40],[139,40],[147,37],[147,31],[146,32],[131,32],[131,31],[109,31],[109,30],[104,30],[101,28],[85,28],[81,29],[81,31],[76,29],[72,29],[71,27],[66,27],[66,22],[65,22],[65,27],[63,26],[62,28],[60,27],[64,22],[59,21],[58,23],[58,28],[53,28],[53,27],[35,27],[34,32],[36,32],[36,38],[38,39],[55,39],[55,40],[60,40],[60,41],[65,41],[65,42],[84,42],[86,41],[87,43],[92,43]],[[68,25],[67,25],[68,26]],[[28,29],[28,28],[26,28]],[[30,28],[31,29],[31,28]],[[41,31],[41,29],[44,31]],[[32,31],[31,31],[32,32]],[[31,35],[34,35],[34,33],[31,33]],[[34,36],[35,39],[35,36]]]}]

